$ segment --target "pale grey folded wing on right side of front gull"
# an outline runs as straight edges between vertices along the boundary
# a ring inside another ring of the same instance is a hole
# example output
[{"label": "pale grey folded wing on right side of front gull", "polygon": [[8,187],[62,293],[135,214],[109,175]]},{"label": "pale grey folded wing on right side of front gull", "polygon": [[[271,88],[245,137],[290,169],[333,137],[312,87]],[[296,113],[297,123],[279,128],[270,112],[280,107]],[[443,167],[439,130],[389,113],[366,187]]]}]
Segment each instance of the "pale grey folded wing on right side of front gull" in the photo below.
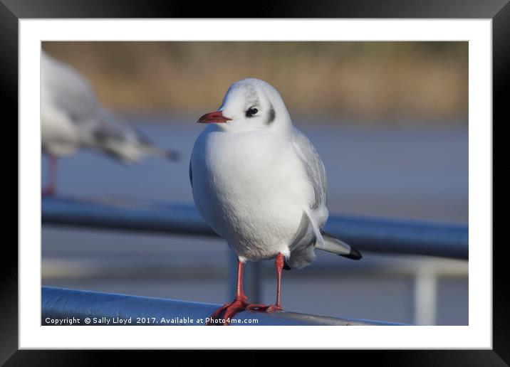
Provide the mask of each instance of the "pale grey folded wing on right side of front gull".
[{"label": "pale grey folded wing on right side of front gull", "polygon": [[308,140],[305,134],[296,129],[294,135],[294,147],[299,158],[303,162],[303,166],[313,187],[314,198],[310,203],[312,210],[317,210],[322,206],[326,206],[326,192],[328,182],[326,180],[326,169],[322,162],[321,156],[318,155],[313,144]]}]

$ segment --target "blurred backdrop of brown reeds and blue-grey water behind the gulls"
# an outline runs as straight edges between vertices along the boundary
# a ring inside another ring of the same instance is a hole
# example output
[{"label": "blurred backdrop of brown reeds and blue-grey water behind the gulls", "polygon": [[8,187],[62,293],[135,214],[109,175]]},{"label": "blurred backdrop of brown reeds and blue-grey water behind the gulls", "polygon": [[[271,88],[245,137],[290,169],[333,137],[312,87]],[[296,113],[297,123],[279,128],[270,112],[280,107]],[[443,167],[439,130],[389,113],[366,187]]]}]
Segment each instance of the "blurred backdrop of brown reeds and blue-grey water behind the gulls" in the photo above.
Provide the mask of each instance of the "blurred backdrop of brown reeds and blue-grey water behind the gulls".
[{"label": "blurred backdrop of brown reeds and blue-grey water behind the gulls", "polygon": [[[182,153],[175,164],[147,159],[123,166],[82,151],[61,159],[58,195],[192,203],[189,154],[203,128],[197,117],[216,110],[232,82],[253,76],[279,89],[321,154],[331,213],[467,223],[467,43],[51,42],[43,48],[83,73],[105,106]],[[46,159],[42,164],[44,182]],[[215,303],[231,295],[221,239],[44,226],[41,250],[44,285]],[[353,262],[321,253],[311,267],[284,272],[283,307],[468,324],[467,261],[363,255]],[[273,262],[264,262],[262,273],[260,301],[272,303]]]}]

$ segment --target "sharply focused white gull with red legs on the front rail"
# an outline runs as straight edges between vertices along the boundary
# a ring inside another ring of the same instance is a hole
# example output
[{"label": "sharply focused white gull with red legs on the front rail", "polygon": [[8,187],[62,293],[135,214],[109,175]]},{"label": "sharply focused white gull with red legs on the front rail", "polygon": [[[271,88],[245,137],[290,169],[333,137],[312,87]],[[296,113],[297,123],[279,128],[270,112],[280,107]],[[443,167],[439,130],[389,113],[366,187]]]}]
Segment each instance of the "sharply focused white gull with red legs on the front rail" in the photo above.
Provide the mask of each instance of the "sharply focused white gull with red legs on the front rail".
[{"label": "sharply focused white gull with red legs on the front rail", "polygon": [[[279,92],[268,83],[232,84],[194,143],[189,179],[199,213],[238,257],[236,297],[211,319],[254,309],[281,311],[281,270],[301,269],[315,249],[359,260],[358,250],[323,231],[328,220],[326,170],[308,138],[293,126]],[[246,261],[276,257],[276,303],[249,304]],[[211,324],[211,323],[209,323]]]}]

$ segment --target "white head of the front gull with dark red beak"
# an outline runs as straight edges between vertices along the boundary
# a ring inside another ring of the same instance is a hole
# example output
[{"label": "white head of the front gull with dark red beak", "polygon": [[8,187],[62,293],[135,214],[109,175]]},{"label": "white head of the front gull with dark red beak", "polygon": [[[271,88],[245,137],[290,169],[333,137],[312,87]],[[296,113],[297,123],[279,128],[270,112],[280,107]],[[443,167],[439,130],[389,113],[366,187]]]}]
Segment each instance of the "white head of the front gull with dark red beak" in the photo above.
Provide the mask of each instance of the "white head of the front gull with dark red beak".
[{"label": "white head of the front gull with dark red beak", "polygon": [[227,90],[222,106],[199,118],[204,124],[241,132],[254,129],[284,130],[292,124],[280,93],[263,80],[239,80]]}]

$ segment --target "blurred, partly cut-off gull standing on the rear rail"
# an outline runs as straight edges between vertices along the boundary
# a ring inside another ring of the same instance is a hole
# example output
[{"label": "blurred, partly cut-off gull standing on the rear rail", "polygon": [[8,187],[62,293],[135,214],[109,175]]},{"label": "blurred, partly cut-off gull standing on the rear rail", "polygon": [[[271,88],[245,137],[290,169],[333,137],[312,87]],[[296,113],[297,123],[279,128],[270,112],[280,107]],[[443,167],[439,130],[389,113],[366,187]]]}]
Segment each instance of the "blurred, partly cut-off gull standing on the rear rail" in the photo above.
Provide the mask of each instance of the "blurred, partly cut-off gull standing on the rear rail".
[{"label": "blurred, partly cut-off gull standing on the rear rail", "polygon": [[155,147],[134,127],[105,110],[82,75],[45,52],[41,55],[41,148],[49,158],[43,195],[55,192],[57,157],[81,148],[101,151],[125,164],[136,163],[145,155],[172,160],[178,155]]}]

